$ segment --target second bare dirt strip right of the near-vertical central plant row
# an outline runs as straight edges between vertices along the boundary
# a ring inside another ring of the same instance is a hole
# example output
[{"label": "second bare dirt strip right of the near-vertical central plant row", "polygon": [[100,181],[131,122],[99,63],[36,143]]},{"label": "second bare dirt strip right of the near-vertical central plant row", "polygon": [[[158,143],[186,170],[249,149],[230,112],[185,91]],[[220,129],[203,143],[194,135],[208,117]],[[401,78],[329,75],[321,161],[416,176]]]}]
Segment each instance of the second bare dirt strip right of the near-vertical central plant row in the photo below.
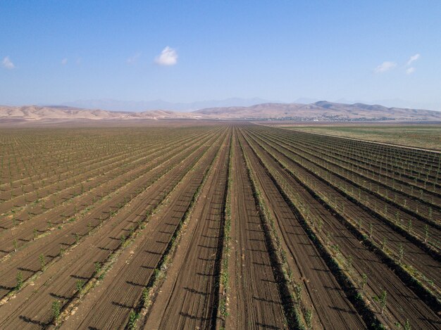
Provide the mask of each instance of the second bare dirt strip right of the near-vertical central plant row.
[{"label": "second bare dirt strip right of the near-vertical central plant row", "polygon": [[333,277],[328,266],[313,246],[299,219],[292,212],[283,196],[274,186],[271,178],[259,163],[252,149],[244,141],[244,148],[251,160],[252,170],[256,173],[261,191],[268,201],[283,246],[288,251],[287,262],[293,280],[304,287],[304,305],[313,306],[314,329],[362,329],[366,327],[356,309],[349,302],[342,286]]}]

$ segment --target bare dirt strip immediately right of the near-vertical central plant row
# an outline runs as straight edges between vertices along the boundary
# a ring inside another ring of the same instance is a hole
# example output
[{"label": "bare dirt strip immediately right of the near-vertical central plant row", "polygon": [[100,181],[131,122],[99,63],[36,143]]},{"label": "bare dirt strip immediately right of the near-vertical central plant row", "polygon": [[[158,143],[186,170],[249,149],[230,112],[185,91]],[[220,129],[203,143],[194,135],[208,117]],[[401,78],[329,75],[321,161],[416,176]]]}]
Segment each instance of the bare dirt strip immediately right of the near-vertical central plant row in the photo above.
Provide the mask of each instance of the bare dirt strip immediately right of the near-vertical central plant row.
[{"label": "bare dirt strip immediately right of the near-vertical central plant row", "polygon": [[287,321],[237,136],[231,190],[230,300],[226,329],[284,329]]}]

